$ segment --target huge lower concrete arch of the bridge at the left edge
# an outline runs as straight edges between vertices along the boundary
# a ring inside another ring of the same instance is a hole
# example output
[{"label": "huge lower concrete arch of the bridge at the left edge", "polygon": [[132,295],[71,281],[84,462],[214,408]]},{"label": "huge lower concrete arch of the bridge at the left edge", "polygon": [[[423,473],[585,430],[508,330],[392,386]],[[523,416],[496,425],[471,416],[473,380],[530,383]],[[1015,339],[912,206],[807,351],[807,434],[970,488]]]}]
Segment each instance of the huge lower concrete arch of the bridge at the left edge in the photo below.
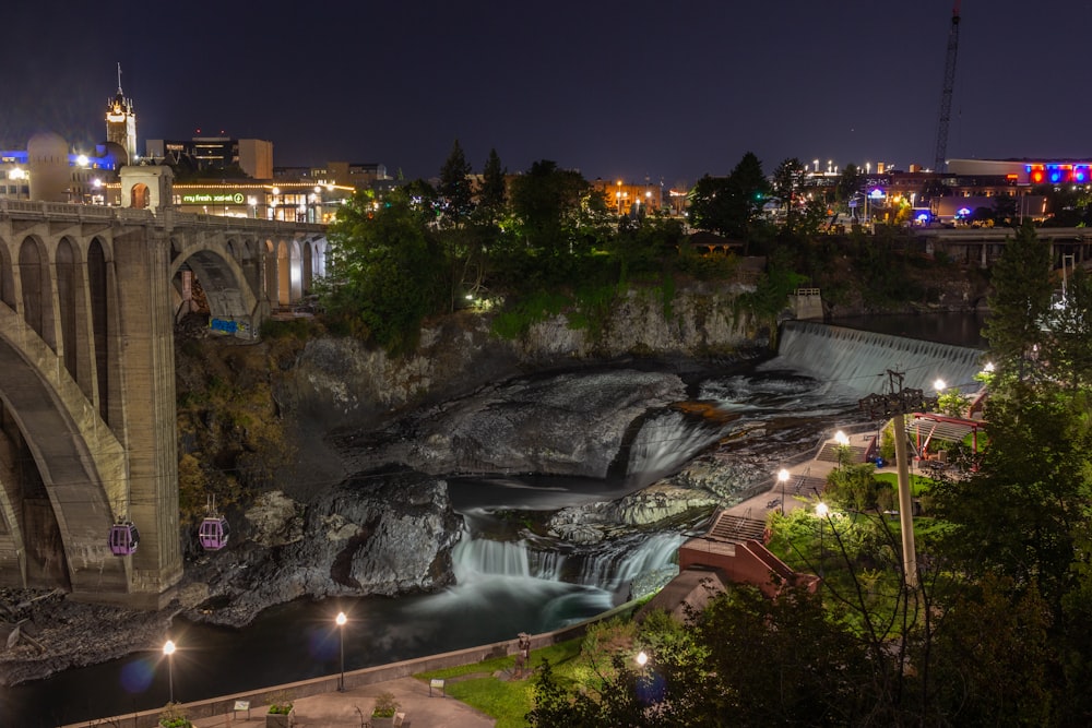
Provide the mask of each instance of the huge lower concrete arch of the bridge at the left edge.
[{"label": "huge lower concrete arch of the bridge at the left edge", "polygon": [[0,308],[0,581],[76,595],[127,594],[131,559],[106,535],[128,508],[124,451],[86,417],[83,393],[46,343]]}]

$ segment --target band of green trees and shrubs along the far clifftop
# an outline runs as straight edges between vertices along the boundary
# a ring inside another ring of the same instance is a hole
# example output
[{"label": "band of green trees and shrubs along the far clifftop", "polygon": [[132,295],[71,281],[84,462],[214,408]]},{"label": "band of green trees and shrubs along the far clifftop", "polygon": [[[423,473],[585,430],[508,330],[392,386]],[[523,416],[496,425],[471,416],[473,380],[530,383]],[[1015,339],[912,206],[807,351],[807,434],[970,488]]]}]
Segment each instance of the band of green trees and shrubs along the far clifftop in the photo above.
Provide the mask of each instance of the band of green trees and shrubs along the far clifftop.
[{"label": "band of green trees and shrubs along the far clifftop", "polygon": [[[685,218],[656,204],[627,208],[608,198],[609,186],[548,159],[507,176],[494,152],[472,188],[456,142],[435,186],[359,192],[339,211],[329,275],[314,290],[331,331],[391,354],[412,350],[427,318],[467,307],[492,309],[506,338],[560,313],[594,334],[633,287],[654,291],[669,314],[681,281],[746,284],[737,314],[771,332],[802,285],[821,286],[833,308],[939,303],[936,271],[951,277],[952,266],[893,226],[834,235],[830,211],[846,210],[845,186],[804,199],[800,165],[791,162],[771,182],[745,155],[729,175],[698,182]],[[770,214],[771,201],[783,217]]]}]

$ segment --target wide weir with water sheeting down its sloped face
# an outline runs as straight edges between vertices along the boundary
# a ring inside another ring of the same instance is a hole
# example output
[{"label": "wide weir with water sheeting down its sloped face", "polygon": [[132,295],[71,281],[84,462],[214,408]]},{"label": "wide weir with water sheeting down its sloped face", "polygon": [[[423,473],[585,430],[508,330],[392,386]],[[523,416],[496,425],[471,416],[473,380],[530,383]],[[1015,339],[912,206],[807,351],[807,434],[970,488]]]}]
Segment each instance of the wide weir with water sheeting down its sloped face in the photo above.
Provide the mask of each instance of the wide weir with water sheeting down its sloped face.
[{"label": "wide weir with water sheeting down its sloped face", "polygon": [[[905,373],[903,386],[933,391],[942,379],[962,392],[975,391],[984,351],[842,326],[788,321],[782,325],[781,363],[822,382],[823,391],[855,397],[887,391],[887,371]],[[775,360],[776,361],[776,360]]]}]

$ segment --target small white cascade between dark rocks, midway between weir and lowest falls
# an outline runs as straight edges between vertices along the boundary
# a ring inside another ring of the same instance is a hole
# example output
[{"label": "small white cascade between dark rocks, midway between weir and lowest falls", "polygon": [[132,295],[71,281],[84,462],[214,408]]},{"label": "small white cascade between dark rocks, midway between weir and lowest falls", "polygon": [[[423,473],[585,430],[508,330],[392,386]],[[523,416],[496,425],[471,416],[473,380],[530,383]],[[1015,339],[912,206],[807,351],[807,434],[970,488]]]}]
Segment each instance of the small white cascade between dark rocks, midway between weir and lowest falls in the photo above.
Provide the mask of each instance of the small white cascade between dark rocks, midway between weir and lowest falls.
[{"label": "small white cascade between dark rocks, midway between weir and lowest falls", "polygon": [[711,445],[720,431],[680,411],[665,410],[649,417],[630,444],[627,476],[641,484],[658,480]]}]

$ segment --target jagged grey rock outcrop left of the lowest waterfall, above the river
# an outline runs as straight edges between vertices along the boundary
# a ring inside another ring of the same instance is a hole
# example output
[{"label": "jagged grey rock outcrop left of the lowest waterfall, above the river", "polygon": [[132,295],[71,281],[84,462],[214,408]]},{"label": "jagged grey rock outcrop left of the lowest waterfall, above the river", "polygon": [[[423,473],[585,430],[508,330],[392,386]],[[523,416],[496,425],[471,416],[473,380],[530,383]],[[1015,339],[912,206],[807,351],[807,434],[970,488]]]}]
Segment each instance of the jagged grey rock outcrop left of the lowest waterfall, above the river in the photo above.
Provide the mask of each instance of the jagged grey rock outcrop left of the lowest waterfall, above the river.
[{"label": "jagged grey rock outcrop left of the lowest waterfall, above the river", "polygon": [[462,533],[447,484],[411,472],[361,474],[308,505],[268,493],[247,520],[239,548],[188,574],[206,586],[183,592],[202,601],[191,618],[240,625],[304,596],[432,590],[451,582]]}]

